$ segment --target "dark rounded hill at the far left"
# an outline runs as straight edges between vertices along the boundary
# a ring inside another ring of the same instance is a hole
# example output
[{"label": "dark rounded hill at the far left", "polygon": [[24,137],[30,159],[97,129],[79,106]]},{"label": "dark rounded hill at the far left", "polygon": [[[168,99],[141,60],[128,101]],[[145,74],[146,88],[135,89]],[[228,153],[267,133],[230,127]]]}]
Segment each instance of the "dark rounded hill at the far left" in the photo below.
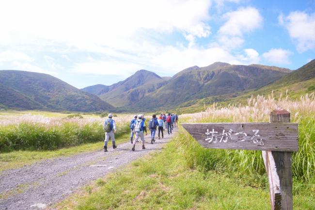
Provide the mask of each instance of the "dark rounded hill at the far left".
[{"label": "dark rounded hill at the far left", "polygon": [[113,107],[47,74],[26,71],[0,71],[0,104],[27,110],[93,112]]}]

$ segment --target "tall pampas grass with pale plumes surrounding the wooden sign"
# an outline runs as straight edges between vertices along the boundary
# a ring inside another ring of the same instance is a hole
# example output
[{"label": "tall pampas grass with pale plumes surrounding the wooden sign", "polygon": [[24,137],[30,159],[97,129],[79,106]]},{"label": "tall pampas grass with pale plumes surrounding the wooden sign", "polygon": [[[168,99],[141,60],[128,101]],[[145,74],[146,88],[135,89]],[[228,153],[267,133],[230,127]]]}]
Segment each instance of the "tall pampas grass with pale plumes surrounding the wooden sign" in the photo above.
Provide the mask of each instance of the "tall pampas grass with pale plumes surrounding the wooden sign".
[{"label": "tall pampas grass with pale plumes surrounding the wooden sign", "polygon": [[[305,95],[299,100],[273,95],[251,97],[247,106],[221,107],[213,104],[205,112],[181,115],[181,122],[268,122],[276,107],[291,113],[291,122],[299,123],[299,151],[292,153],[293,177],[303,188],[315,193],[315,96]],[[189,134],[180,132],[178,148],[186,158],[189,168],[201,171],[229,171],[247,180],[251,185],[264,186],[266,170],[261,151],[205,149]]]}]

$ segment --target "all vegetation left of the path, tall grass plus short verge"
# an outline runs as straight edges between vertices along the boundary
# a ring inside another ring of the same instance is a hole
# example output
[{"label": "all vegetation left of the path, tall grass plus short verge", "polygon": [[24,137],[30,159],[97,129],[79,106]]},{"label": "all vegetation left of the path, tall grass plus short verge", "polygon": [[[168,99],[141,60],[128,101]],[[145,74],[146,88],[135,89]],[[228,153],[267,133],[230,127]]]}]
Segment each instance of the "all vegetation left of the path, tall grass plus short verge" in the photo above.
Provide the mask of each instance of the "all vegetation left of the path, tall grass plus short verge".
[{"label": "all vegetation left of the path, tall grass plus short verge", "polygon": [[[129,118],[129,114],[114,118],[118,144],[129,140]],[[0,171],[102,149],[104,120],[99,114],[1,113]]]}]

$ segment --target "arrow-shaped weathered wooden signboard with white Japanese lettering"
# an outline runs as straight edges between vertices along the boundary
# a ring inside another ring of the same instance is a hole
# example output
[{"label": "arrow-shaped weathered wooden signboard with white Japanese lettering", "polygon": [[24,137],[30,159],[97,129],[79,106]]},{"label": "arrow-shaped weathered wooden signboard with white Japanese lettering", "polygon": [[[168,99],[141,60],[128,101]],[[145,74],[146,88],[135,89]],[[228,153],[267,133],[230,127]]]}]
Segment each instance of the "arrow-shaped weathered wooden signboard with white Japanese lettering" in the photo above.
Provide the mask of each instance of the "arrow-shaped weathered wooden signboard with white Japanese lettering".
[{"label": "arrow-shaped weathered wooden signboard with white Japanese lettering", "polygon": [[182,123],[181,125],[206,148],[299,150],[298,124],[295,123]]}]

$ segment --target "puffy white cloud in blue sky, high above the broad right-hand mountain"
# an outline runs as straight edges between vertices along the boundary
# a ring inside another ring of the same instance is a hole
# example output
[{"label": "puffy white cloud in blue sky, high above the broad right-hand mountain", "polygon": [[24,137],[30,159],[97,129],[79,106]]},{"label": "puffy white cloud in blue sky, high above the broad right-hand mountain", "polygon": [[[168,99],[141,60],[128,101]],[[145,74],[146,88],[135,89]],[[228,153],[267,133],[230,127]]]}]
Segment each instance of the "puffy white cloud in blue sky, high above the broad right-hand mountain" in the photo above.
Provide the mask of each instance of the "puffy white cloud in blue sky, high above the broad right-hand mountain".
[{"label": "puffy white cloud in blue sky, high above the broad right-hand mountain", "polygon": [[263,17],[253,7],[242,7],[223,15],[226,22],[219,29],[219,42],[226,48],[238,48],[244,40],[244,33],[252,32],[261,27]]}]

